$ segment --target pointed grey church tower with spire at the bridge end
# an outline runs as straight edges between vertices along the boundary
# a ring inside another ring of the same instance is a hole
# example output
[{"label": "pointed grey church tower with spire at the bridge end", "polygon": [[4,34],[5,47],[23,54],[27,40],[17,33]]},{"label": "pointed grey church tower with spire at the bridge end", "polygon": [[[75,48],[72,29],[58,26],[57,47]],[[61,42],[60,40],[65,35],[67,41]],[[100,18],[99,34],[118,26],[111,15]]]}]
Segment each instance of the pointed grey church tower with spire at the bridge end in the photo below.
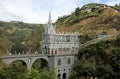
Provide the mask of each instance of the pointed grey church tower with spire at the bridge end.
[{"label": "pointed grey church tower with spire at the bridge end", "polygon": [[[45,32],[43,35],[43,43],[42,43],[42,52],[44,54],[51,55],[51,51],[53,49],[53,39],[56,35],[55,26],[52,24],[51,13],[49,13],[48,23],[44,26]],[[51,46],[52,45],[52,46]]]}]

